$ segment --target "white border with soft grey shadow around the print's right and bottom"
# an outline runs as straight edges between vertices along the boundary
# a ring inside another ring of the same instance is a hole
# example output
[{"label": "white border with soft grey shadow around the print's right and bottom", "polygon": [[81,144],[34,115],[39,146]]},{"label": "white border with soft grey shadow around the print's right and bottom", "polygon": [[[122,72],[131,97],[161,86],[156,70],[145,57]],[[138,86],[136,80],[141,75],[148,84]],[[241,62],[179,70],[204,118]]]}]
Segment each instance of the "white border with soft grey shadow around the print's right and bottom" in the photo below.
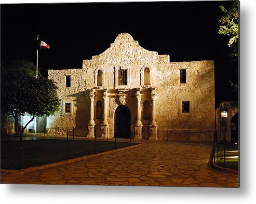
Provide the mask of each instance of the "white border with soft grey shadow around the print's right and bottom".
[{"label": "white border with soft grey shadow around the print's right and bottom", "polygon": [[[143,0],[141,0],[142,2]],[[169,0],[172,1],[172,0]],[[43,3],[68,1],[39,1]],[[39,3],[35,1],[1,1]],[[76,1],[85,2],[85,1]],[[103,1],[99,1],[103,2]],[[117,1],[112,1],[117,2]],[[122,2],[119,0],[118,2]],[[129,0],[126,0],[129,2]],[[149,0],[147,0],[149,2]],[[8,185],[0,184],[5,203],[254,203],[255,196],[255,2],[240,1],[240,188]],[[47,13],[46,13],[47,15]]]}]

